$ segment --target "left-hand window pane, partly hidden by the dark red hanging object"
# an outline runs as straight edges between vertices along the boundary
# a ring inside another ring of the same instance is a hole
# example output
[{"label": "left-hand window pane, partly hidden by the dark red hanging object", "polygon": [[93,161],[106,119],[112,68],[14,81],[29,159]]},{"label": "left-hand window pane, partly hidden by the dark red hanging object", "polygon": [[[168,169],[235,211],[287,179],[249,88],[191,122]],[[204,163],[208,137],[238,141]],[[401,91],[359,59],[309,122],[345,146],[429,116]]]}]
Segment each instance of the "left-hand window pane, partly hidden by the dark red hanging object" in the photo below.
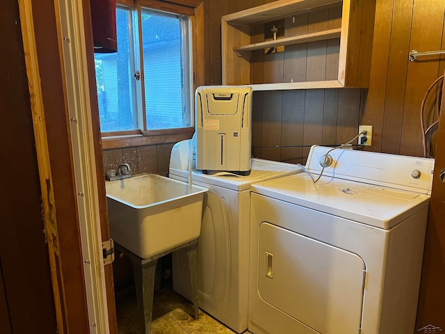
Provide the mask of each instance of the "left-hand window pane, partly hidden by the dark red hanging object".
[{"label": "left-hand window pane, partly hidden by the dark red hanging object", "polygon": [[102,132],[139,129],[134,79],[131,10],[116,9],[118,52],[95,54],[97,100]]}]

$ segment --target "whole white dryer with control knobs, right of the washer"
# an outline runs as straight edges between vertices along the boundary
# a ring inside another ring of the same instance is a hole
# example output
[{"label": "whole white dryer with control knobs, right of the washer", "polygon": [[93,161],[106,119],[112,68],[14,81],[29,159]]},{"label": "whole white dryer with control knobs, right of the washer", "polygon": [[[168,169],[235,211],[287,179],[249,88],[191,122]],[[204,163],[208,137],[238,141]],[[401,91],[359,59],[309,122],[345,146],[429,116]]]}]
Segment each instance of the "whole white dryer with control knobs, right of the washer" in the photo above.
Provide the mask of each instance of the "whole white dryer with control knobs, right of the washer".
[{"label": "whole white dryer with control knobs, right of the washer", "polygon": [[[328,150],[312,147],[314,178]],[[434,160],[328,155],[316,184],[300,173],[252,185],[248,328],[414,333]]]}]

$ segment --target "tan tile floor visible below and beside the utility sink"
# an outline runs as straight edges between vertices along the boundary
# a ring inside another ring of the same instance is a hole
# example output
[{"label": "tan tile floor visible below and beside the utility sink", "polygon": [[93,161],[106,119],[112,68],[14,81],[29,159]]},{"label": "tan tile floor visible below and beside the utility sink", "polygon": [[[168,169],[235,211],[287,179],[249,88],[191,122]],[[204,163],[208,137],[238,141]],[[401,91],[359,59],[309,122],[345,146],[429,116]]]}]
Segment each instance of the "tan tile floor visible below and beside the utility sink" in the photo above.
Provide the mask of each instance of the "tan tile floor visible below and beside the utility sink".
[{"label": "tan tile floor visible below and beside the utility sink", "polygon": [[[233,334],[236,333],[200,310],[193,319],[192,304],[174,292],[170,285],[154,293],[152,334]],[[143,334],[140,330],[136,292],[116,292],[118,334]],[[243,334],[251,334],[245,331]]]}]

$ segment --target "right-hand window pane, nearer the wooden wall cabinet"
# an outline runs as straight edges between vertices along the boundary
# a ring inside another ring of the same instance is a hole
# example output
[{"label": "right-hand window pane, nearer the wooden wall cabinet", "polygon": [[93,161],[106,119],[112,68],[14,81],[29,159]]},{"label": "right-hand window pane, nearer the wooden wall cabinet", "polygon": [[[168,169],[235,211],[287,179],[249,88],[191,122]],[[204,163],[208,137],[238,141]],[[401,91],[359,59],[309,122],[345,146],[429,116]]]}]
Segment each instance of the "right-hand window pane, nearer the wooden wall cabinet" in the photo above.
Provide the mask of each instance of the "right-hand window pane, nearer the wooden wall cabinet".
[{"label": "right-hand window pane, nearer the wooden wall cabinet", "polygon": [[187,22],[180,15],[142,12],[147,129],[191,125]]}]

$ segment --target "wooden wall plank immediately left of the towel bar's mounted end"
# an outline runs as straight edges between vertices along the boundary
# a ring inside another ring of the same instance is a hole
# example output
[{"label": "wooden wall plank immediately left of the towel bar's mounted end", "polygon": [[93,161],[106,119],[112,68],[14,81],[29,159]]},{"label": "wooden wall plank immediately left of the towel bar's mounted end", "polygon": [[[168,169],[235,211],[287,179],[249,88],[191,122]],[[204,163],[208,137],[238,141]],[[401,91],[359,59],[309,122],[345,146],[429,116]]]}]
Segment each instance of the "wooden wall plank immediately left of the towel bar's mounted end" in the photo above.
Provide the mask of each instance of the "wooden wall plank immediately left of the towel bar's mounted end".
[{"label": "wooden wall plank immediately left of the towel bar's mounted end", "polygon": [[394,1],[389,46],[387,89],[382,127],[381,152],[398,154],[401,145],[407,53],[410,52],[412,1]]}]

